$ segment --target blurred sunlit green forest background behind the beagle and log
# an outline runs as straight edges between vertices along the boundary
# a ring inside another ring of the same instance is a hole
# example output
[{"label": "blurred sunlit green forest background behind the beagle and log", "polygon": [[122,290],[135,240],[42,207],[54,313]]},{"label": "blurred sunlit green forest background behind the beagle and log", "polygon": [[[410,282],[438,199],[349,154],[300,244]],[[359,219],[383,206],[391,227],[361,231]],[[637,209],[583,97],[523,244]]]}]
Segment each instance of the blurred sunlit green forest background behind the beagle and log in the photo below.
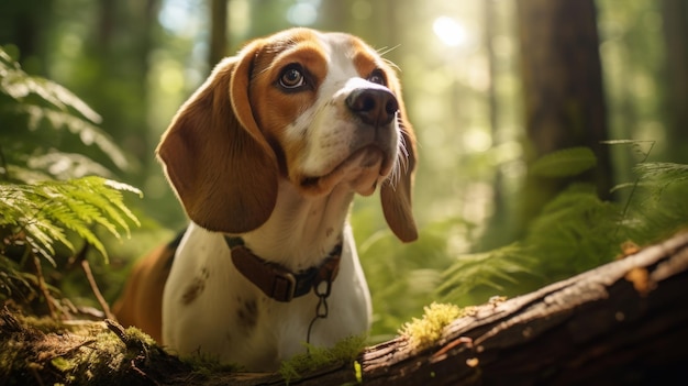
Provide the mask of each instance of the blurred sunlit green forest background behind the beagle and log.
[{"label": "blurred sunlit green forest background behind the beagle and log", "polygon": [[[676,176],[688,163],[685,0],[2,1],[3,51],[90,106],[98,132],[121,150],[59,122],[27,129],[4,111],[4,156],[54,178],[98,174],[144,194],[127,200],[142,228],[108,244],[109,265],[93,258],[108,299],[137,256],[186,225],[153,154],[176,109],[219,58],[293,25],[349,32],[384,52],[400,68],[418,135],[420,240],[393,239],[377,196],[354,207],[374,339],[432,300],[521,294],[612,260],[628,239],[688,224],[685,187],[665,179],[637,199],[651,185],[643,178],[661,172],[639,165],[674,165]],[[657,208],[668,214],[636,227],[634,208],[645,220]],[[75,302],[92,301],[65,283]]]}]

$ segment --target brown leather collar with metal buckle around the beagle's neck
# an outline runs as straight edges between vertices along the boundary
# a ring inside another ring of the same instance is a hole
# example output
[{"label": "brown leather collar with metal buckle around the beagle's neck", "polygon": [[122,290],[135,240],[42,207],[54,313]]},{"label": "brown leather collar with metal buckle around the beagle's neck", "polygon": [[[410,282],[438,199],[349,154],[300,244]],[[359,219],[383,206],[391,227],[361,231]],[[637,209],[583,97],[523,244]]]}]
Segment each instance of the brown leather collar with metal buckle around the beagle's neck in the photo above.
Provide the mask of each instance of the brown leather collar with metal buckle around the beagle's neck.
[{"label": "brown leather collar with metal buckle around the beagle's neck", "polygon": [[238,272],[251,283],[277,301],[291,301],[310,293],[322,282],[330,285],[340,271],[342,258],[342,243],[334,246],[332,252],[318,266],[293,273],[284,266],[263,260],[244,244],[242,238],[224,236],[224,241],[232,251],[232,263]]}]

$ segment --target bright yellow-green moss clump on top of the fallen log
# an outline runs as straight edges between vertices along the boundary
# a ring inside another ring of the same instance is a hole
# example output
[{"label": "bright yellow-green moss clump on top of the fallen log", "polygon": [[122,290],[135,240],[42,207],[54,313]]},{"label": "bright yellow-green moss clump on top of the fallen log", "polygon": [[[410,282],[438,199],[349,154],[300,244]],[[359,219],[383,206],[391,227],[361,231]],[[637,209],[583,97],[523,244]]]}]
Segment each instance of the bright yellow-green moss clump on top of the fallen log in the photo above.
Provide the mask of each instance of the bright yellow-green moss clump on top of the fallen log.
[{"label": "bright yellow-green moss clump on top of the fallen log", "polygon": [[424,310],[425,313],[421,319],[413,318],[399,330],[399,334],[408,339],[413,351],[432,346],[442,338],[442,332],[447,324],[467,313],[466,308],[437,302],[425,306]]}]

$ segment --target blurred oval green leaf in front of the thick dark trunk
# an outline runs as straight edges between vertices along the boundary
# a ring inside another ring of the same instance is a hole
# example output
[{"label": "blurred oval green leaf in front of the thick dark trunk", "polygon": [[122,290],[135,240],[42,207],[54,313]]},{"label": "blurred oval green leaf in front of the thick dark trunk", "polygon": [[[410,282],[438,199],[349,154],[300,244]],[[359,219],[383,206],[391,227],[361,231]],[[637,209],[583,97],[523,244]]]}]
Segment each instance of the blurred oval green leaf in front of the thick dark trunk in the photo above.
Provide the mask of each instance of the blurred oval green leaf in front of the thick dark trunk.
[{"label": "blurred oval green leaf in front of the thick dark trunk", "polygon": [[569,147],[540,157],[530,172],[540,177],[569,177],[589,170],[597,164],[595,153],[588,147]]}]

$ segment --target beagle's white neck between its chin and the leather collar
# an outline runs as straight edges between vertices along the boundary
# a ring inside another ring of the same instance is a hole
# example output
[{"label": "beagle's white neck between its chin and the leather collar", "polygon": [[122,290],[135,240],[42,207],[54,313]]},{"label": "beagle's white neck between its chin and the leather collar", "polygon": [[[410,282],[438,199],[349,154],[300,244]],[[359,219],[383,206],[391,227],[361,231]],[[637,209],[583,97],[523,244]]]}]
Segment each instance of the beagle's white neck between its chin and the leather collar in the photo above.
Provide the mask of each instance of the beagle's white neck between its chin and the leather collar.
[{"label": "beagle's white neck between its chin and the leather collar", "polygon": [[347,186],[326,196],[303,196],[280,180],[270,218],[241,236],[254,254],[293,272],[317,266],[342,241],[353,197]]}]

